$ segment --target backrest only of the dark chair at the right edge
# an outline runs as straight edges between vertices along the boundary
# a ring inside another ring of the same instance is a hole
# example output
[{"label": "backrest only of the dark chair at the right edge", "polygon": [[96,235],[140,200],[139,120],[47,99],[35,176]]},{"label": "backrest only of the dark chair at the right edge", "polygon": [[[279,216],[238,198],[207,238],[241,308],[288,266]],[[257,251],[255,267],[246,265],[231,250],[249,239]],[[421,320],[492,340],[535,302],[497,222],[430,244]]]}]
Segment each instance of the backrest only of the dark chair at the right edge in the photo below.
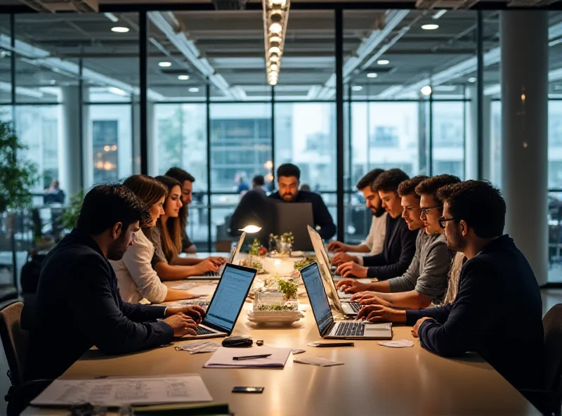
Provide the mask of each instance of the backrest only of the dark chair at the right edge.
[{"label": "backrest only of the dark chair at the right edge", "polygon": [[562,304],[552,306],[542,318],[544,327],[545,384],[549,391],[559,389],[562,377]]}]

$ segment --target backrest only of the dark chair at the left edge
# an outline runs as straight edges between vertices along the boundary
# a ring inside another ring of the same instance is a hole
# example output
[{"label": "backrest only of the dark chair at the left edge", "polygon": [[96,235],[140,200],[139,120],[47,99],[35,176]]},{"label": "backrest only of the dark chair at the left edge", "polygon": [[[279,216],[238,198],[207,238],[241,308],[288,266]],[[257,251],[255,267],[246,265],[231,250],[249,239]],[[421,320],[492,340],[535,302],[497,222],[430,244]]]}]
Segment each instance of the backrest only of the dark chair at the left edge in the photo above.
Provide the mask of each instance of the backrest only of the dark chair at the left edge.
[{"label": "backrest only of the dark chair at the left edge", "polygon": [[23,366],[27,356],[29,333],[22,330],[22,301],[15,301],[0,309],[0,339],[8,360],[13,386],[23,383]]}]

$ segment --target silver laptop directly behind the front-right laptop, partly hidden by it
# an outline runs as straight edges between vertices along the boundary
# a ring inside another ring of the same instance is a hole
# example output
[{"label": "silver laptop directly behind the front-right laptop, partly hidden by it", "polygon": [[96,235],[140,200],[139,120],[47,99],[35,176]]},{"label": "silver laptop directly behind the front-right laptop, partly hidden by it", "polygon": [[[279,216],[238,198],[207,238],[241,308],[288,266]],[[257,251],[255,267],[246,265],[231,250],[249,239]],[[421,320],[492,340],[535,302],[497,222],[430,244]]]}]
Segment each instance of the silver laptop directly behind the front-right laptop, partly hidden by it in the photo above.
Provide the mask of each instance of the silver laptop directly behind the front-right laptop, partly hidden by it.
[{"label": "silver laptop directly behind the front-right laptop, partly hidden by it", "polygon": [[332,299],[334,306],[340,313],[344,313],[344,315],[348,316],[357,315],[361,306],[358,302],[349,301],[349,298],[351,298],[353,294],[340,292],[336,289],[334,276],[330,272],[328,254],[320,234],[318,234],[313,228],[308,227],[308,235],[311,236],[314,254],[316,256],[316,261],[318,262],[318,267],[320,268],[320,276],[324,282],[328,297]]}]

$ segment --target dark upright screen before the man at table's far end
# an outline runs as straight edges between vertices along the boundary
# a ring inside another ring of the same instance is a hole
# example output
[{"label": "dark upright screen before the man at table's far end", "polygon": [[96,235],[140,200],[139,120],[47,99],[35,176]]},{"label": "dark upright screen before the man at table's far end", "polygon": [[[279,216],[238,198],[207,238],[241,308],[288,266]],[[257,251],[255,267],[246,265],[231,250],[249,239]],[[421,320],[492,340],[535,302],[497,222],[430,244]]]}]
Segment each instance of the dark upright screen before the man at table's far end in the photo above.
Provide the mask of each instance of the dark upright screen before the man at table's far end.
[{"label": "dark upright screen before the man at table's far end", "polygon": [[308,202],[277,202],[275,210],[275,235],[293,233],[294,251],[311,252],[313,245],[308,226],[314,227],[312,204]]}]

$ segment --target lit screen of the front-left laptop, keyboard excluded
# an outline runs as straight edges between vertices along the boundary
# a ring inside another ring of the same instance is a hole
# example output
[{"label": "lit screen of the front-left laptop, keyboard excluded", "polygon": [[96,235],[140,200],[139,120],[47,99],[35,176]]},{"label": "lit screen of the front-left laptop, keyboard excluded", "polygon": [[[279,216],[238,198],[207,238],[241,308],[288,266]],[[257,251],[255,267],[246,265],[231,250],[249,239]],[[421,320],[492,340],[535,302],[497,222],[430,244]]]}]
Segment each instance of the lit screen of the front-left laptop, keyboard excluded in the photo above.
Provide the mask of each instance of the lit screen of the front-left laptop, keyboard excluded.
[{"label": "lit screen of the front-left laptop, keyboard excluded", "polygon": [[204,323],[232,332],[255,275],[255,270],[242,270],[227,264],[207,308]]}]

